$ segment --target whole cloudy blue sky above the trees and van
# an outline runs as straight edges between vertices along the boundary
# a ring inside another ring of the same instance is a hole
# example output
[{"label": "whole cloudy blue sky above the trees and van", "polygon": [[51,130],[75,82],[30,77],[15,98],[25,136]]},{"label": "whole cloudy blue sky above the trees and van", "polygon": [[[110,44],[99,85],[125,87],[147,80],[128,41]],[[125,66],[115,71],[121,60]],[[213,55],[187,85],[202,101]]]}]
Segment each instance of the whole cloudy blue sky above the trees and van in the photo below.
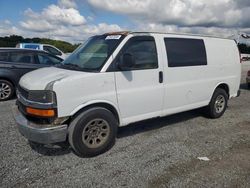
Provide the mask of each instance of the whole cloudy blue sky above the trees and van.
[{"label": "whole cloudy blue sky above the trees and van", "polygon": [[237,38],[250,34],[250,0],[0,0],[0,36],[79,43],[121,30]]}]

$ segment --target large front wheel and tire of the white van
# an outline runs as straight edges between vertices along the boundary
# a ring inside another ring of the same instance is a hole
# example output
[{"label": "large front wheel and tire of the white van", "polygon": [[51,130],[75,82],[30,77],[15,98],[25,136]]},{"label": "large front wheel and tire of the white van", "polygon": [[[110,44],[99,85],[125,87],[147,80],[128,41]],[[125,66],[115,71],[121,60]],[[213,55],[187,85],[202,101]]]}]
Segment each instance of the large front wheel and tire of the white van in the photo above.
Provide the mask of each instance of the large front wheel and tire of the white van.
[{"label": "large front wheel and tire of the white van", "polygon": [[94,107],[79,114],[69,126],[69,143],[81,157],[94,157],[115,143],[118,122],[107,109]]}]

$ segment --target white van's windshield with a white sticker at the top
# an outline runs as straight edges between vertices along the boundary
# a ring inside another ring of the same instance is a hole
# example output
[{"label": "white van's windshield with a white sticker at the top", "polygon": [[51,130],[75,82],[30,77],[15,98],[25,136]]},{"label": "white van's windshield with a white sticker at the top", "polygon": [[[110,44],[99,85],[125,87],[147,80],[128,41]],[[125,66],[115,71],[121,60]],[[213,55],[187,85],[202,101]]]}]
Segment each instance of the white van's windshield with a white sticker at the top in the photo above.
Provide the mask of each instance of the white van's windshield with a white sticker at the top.
[{"label": "white van's windshield with a white sticker at the top", "polygon": [[100,71],[123,38],[123,35],[91,37],[63,61],[59,67],[89,72]]}]

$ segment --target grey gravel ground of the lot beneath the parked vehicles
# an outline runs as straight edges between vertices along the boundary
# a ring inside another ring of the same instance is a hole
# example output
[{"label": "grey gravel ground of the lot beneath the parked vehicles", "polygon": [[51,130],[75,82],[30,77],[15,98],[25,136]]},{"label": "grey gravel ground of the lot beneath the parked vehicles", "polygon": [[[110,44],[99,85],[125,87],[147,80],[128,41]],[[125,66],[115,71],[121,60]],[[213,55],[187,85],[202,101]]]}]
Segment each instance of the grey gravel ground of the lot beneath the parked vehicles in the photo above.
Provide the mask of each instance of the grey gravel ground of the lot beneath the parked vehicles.
[{"label": "grey gravel ground of the lot beneath the parked vehicles", "polygon": [[[243,64],[242,83],[250,62]],[[34,147],[0,103],[0,187],[250,187],[250,90],[223,117],[201,110],[120,128],[116,145],[79,158],[67,144]],[[197,157],[208,157],[201,161]]]}]

